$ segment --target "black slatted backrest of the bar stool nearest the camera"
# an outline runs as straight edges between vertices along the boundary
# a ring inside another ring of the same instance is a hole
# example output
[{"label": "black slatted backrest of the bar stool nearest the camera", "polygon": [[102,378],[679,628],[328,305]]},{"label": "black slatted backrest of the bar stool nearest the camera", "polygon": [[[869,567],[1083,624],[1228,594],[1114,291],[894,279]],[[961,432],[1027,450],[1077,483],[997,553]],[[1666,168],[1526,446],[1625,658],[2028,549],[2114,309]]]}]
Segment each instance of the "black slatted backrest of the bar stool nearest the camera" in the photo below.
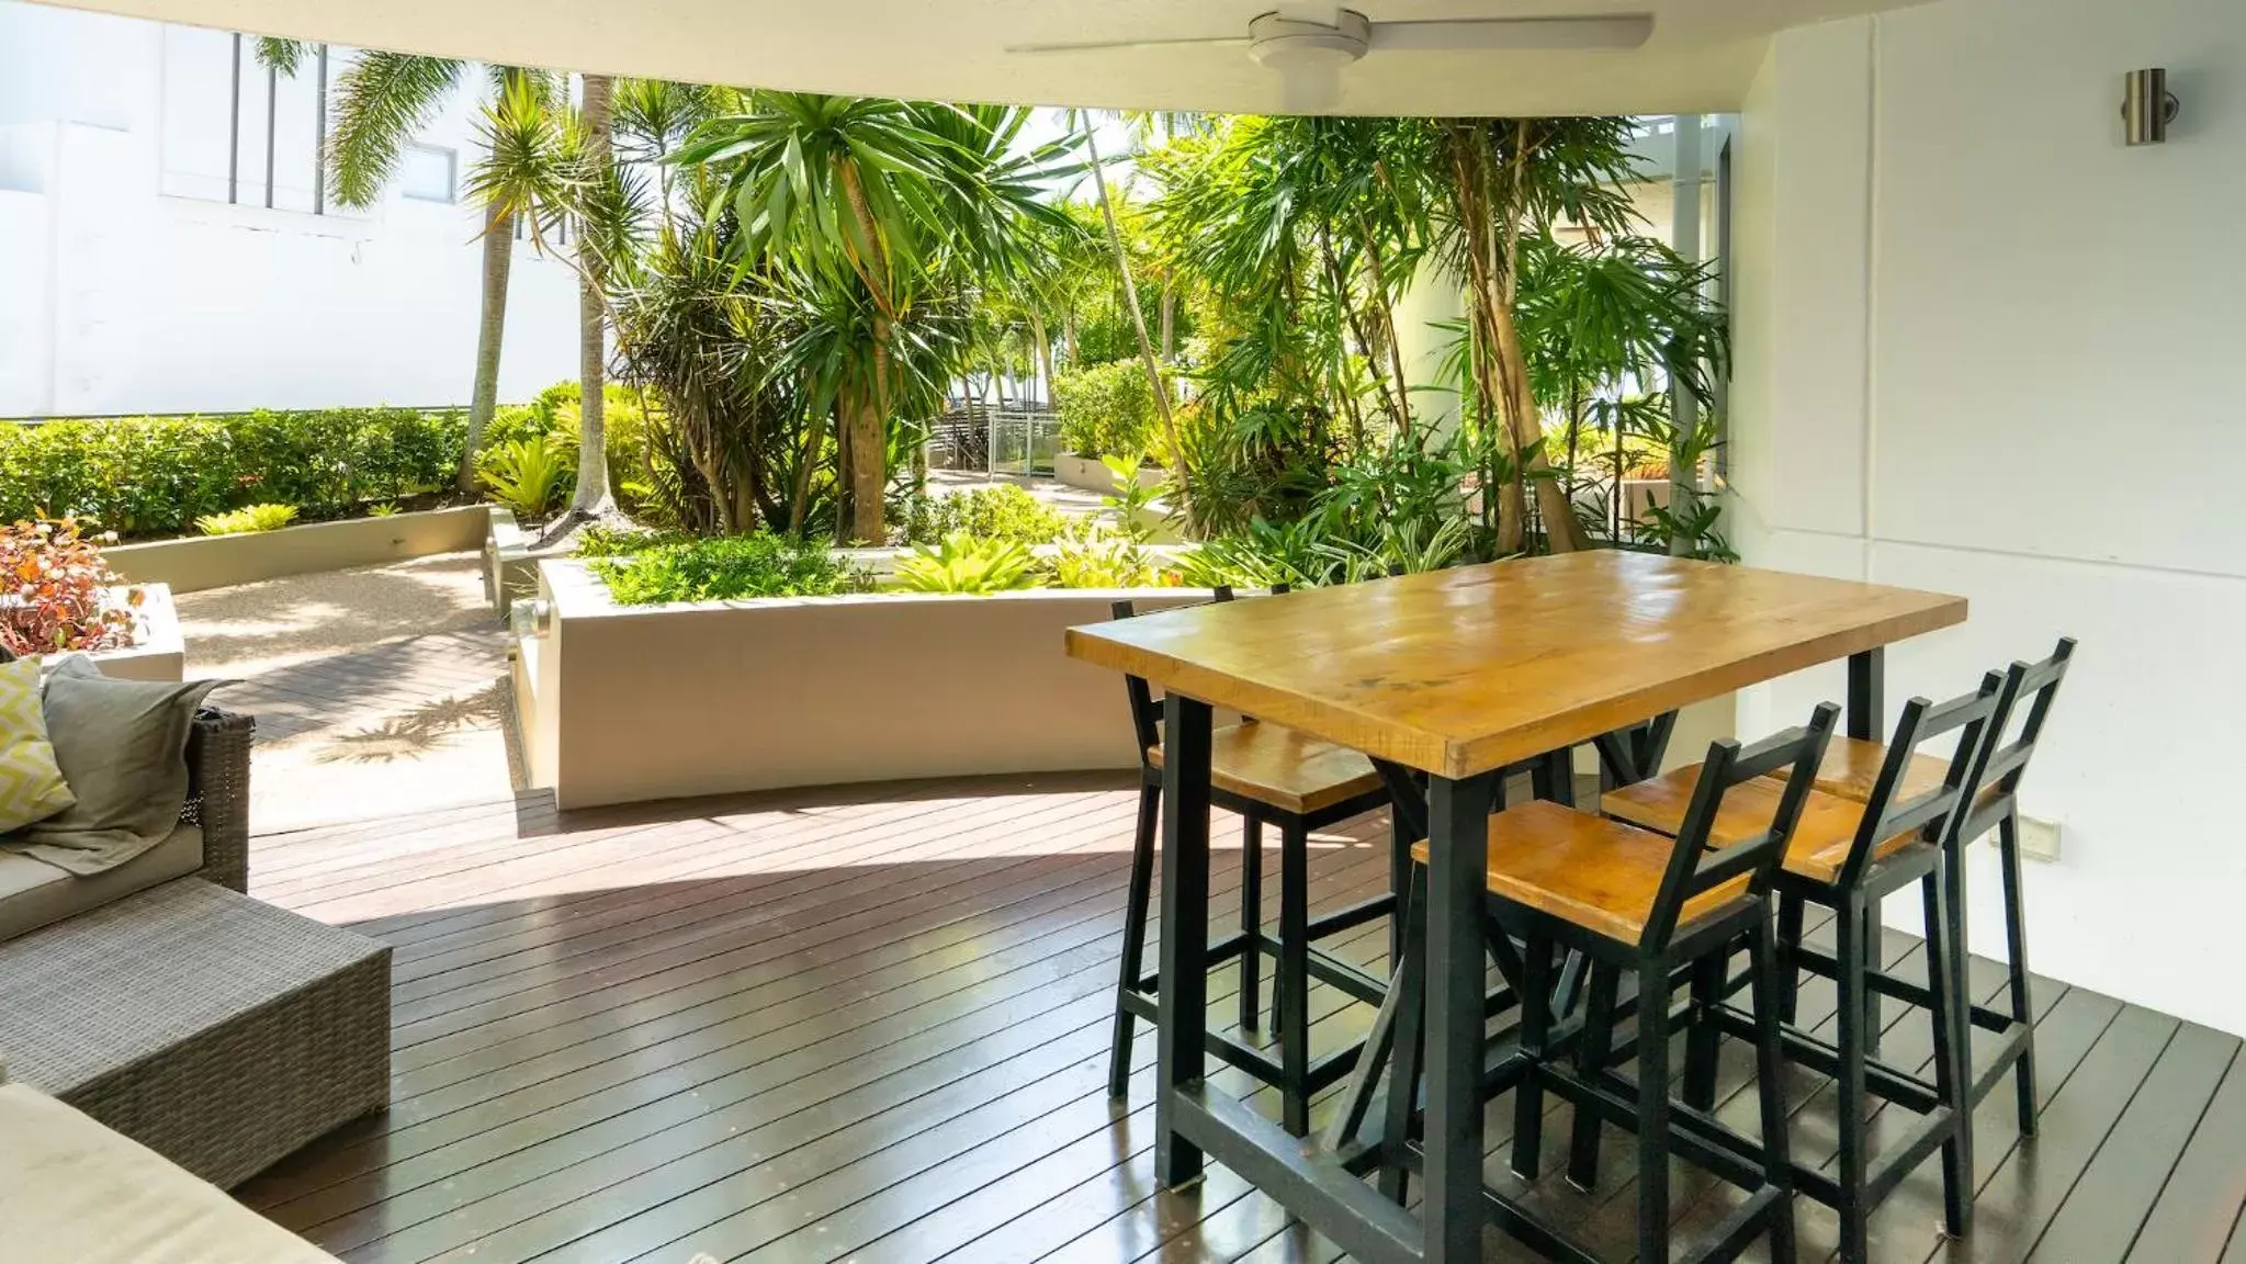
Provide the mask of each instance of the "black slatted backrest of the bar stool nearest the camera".
[{"label": "black slatted backrest of the bar stool nearest the camera", "polygon": [[[1678,916],[1693,896],[1714,891],[1741,876],[1747,878],[1747,891],[1754,896],[1770,889],[1779,860],[1786,858],[1786,844],[1795,835],[1795,824],[1801,819],[1801,804],[1808,802],[1810,784],[1817,779],[1817,763],[1824,759],[1826,743],[1833,741],[1833,723],[1837,718],[1839,707],[1819,703],[1804,727],[1765,736],[1745,748],[1732,739],[1709,743],[1700,779],[1691,790],[1691,804],[1684,808],[1684,822],[1678,826],[1676,851],[1669,853],[1669,869],[1662,873],[1662,887],[1653,896],[1653,909],[1646,916],[1646,929],[1637,945],[1642,952],[1664,952],[1669,947]],[[1723,797],[1734,786],[1768,777],[1781,768],[1788,770],[1786,790],[1779,793],[1779,810],[1770,819],[1770,828],[1720,851],[1707,851]]]}]

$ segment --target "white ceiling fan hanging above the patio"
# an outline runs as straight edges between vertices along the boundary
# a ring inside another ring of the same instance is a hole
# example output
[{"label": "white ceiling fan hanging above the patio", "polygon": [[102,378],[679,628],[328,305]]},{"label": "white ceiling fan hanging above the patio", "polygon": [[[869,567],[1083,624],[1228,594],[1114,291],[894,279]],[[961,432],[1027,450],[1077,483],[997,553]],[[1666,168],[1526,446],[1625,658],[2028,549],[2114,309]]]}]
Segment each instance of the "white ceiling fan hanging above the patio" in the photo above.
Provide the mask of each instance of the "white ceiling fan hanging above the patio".
[{"label": "white ceiling fan hanging above the patio", "polygon": [[1357,9],[1294,4],[1249,18],[1244,36],[1175,36],[1011,45],[1017,54],[1067,54],[1132,47],[1247,45],[1258,65],[1280,74],[1289,110],[1327,110],[1341,99],[1341,67],[1368,52],[1449,49],[1633,49],[1653,36],[1651,13],[1590,18],[1433,18],[1375,22]]}]

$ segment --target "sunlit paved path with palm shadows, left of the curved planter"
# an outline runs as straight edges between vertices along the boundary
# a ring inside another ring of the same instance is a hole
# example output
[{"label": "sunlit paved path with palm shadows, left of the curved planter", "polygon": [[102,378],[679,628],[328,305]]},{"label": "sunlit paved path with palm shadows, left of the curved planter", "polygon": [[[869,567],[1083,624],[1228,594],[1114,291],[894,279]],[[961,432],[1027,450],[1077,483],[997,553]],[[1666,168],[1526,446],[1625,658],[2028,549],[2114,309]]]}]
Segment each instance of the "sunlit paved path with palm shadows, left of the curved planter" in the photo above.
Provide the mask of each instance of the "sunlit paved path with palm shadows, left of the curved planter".
[{"label": "sunlit paved path with palm shadows, left of the curved planter", "polygon": [[258,718],[249,828],[508,799],[508,649],[472,552],[180,597],[186,674]]}]

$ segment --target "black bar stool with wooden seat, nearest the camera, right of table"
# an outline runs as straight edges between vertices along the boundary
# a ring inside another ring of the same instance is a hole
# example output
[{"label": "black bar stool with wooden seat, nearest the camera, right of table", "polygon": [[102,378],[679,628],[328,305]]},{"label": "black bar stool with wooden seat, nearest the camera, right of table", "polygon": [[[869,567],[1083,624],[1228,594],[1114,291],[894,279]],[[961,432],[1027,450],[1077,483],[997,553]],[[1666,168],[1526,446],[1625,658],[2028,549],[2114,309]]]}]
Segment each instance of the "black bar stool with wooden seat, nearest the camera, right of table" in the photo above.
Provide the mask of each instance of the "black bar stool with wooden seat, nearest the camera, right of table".
[{"label": "black bar stool with wooden seat, nearest the camera, right of table", "polygon": [[[1491,1091],[1514,1089],[1514,1170],[1534,1179],[1543,1154],[1543,1093],[1570,1100],[1586,1129],[1613,1123],[1637,1136],[1637,1260],[1669,1260],[1669,1156],[1671,1152],[1738,1183],[1747,1199],[1716,1228],[1689,1260],[1729,1260],[1754,1237],[1768,1237],[1774,1264],[1795,1257],[1792,1179],[1788,1158],[1786,1102],[1781,1098],[1781,1035],[1777,1010],[1779,965],[1770,938],[1770,889],[1788,849],[1801,806],[1810,797],[1810,770],[1833,734],[1839,707],[1822,705],[1806,727],[1763,739],[1750,748],[1736,741],[1709,745],[1693,786],[1684,831],[1664,837],[1595,813],[1552,802],[1530,802],[1489,817],[1489,945],[1512,952],[1521,941],[1521,1035],[1518,1051],[1487,1075]],[[1768,828],[1727,840],[1707,851],[1727,799],[1761,786],[1765,775],[1786,775],[1777,813]],[[1426,844],[1413,846],[1426,862]],[[1413,925],[1419,920],[1424,878],[1415,871]],[[1671,981],[1700,961],[1723,961],[1732,943],[1750,950],[1747,981],[1754,992],[1756,1064],[1761,1087],[1761,1136],[1745,1138],[1691,1102],[1669,1093]],[[1415,995],[1424,981],[1419,938],[1406,947],[1397,1006],[1388,1118],[1381,1127],[1384,1192],[1404,1197],[1402,1163],[1408,1158],[1410,1114],[1417,1100],[1417,1064],[1424,1010]],[[1590,961],[1590,1017],[1583,1039],[1610,1035],[1617,983],[1637,988],[1637,1078],[1626,1080],[1606,1064],[1606,1048],[1554,1039],[1552,972],[1561,952]],[[1377,1048],[1386,1053],[1386,1048]],[[1354,1123],[1357,1102],[1343,1114]],[[1595,1132],[1590,1132],[1597,1141]],[[1527,1208],[1485,1190],[1498,1206],[1498,1224],[1554,1260],[1590,1260],[1559,1226],[1541,1224]]]}]

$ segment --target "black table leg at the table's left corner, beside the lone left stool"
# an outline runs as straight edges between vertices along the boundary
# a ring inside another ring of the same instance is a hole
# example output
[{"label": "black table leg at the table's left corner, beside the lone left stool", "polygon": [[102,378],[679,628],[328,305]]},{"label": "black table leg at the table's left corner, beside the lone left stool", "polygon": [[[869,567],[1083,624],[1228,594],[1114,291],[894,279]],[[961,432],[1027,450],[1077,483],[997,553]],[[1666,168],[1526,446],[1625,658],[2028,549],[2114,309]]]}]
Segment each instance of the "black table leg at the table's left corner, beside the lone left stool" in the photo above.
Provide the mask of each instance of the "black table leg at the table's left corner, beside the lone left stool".
[{"label": "black table leg at the table's left corner, beside the lone left stool", "polygon": [[1208,703],[1163,698],[1154,1172],[1172,1188],[1202,1174],[1202,1147],[1177,1132],[1177,1091],[1202,1082],[1208,1057]]}]

